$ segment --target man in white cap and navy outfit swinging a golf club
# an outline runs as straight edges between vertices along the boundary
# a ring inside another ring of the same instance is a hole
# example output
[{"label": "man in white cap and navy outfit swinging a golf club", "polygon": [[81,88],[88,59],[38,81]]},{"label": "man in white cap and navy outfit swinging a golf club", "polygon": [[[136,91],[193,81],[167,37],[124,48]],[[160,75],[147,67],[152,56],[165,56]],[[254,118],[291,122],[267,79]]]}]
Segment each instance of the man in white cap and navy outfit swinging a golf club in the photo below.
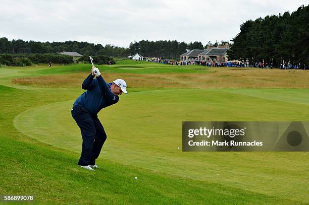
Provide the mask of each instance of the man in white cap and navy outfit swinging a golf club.
[{"label": "man in white cap and navy outfit swinging a golf club", "polygon": [[[96,79],[94,79],[96,76]],[[119,96],[126,93],[127,84],[122,79],[106,83],[99,70],[92,66],[91,74],[84,80],[82,89],[86,90],[73,104],[72,116],[80,127],[83,146],[78,165],[93,170],[98,168],[95,160],[100,154],[107,135],[97,118],[97,113],[105,107],[119,101]]]}]

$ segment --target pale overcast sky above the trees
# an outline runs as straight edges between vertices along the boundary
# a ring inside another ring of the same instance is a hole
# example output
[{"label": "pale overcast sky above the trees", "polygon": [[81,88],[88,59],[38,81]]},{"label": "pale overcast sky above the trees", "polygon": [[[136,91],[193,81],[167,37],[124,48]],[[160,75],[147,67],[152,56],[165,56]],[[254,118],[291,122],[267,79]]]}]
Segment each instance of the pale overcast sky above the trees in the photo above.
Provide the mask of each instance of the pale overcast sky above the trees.
[{"label": "pale overcast sky above the trees", "polygon": [[248,19],[293,12],[308,0],[0,0],[0,37],[87,41],[229,41]]}]

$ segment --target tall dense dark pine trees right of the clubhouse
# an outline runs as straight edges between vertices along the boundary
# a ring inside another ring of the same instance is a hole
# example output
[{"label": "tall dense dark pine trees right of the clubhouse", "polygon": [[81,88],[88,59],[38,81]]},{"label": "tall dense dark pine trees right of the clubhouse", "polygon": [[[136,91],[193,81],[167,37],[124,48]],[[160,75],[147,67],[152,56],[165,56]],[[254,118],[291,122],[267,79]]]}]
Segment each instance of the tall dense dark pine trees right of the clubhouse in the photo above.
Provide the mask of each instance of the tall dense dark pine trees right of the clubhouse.
[{"label": "tall dense dark pine trees right of the clubhouse", "polygon": [[232,39],[229,59],[250,63],[309,63],[309,5],[283,15],[248,20]]}]

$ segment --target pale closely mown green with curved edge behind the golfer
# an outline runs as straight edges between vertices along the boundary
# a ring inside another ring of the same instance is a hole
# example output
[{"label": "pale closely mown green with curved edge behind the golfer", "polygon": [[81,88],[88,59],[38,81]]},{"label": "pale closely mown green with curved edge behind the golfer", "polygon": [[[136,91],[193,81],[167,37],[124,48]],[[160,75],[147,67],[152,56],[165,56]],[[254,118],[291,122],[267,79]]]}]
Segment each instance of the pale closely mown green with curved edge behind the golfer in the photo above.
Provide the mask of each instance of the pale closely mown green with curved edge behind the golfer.
[{"label": "pale closely mown green with curved edge behind the golfer", "polygon": [[[303,92],[295,91],[294,97]],[[70,112],[73,102],[26,110],[14,124],[39,141],[80,152],[80,131]],[[182,144],[182,121],[306,120],[307,113],[307,104],[225,89],[132,92],[99,113],[108,135],[99,159],[306,202],[308,153],[183,153],[177,147]]]}]

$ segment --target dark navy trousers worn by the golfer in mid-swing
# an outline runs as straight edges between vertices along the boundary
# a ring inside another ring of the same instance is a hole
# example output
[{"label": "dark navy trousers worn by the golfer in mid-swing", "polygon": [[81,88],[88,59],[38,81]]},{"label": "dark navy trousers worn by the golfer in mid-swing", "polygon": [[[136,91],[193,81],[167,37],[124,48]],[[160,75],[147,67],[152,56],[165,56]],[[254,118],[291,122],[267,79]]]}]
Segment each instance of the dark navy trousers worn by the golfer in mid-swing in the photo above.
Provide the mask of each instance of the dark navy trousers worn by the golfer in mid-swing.
[{"label": "dark navy trousers worn by the golfer in mid-swing", "polygon": [[107,135],[97,116],[91,116],[82,106],[73,106],[72,117],[80,128],[83,146],[78,165],[94,165]]}]

